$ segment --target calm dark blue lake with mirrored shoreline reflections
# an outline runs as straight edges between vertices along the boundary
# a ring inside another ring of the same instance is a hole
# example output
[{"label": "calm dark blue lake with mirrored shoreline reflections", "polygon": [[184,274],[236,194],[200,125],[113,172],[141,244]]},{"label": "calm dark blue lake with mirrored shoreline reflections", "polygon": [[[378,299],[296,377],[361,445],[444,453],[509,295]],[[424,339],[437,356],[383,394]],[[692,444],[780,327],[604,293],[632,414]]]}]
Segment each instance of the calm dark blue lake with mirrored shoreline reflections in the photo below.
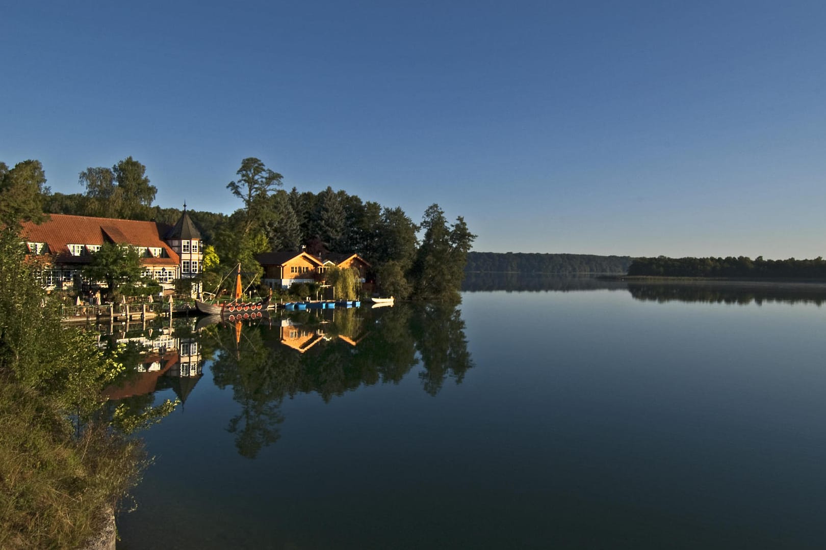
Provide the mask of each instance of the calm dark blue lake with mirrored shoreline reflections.
[{"label": "calm dark blue lake with mirrored shoreline reflections", "polygon": [[118,548],[822,548],[822,287],[517,286],[184,328]]}]

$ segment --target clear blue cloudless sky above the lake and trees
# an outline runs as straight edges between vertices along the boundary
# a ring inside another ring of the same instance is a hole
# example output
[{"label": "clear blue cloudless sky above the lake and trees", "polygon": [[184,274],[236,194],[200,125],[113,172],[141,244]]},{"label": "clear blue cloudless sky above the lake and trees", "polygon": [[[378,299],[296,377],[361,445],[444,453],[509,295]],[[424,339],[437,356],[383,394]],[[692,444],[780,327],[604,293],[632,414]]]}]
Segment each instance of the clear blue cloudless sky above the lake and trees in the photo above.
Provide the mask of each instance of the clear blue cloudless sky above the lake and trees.
[{"label": "clear blue cloudless sky above the lake and trees", "polygon": [[479,251],[826,256],[826,2],[9,2],[0,160],[285,186]]}]

